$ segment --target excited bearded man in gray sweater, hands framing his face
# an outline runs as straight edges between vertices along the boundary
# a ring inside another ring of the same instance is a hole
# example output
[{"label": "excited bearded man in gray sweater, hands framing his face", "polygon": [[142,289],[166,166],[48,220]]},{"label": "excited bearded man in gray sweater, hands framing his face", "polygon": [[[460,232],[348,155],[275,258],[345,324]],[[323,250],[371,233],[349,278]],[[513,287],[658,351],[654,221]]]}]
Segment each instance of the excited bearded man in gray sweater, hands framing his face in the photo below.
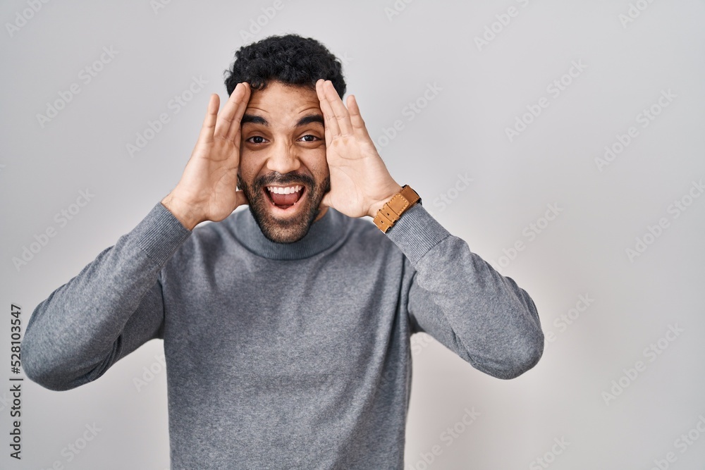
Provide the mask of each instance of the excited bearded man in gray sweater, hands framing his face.
[{"label": "excited bearded man in gray sweater, hands framing his face", "polygon": [[35,309],[27,376],[75,388],[163,338],[173,469],[401,469],[410,336],[513,378],[534,303],[391,177],[322,44],[243,47],[226,86],[174,190]]}]

